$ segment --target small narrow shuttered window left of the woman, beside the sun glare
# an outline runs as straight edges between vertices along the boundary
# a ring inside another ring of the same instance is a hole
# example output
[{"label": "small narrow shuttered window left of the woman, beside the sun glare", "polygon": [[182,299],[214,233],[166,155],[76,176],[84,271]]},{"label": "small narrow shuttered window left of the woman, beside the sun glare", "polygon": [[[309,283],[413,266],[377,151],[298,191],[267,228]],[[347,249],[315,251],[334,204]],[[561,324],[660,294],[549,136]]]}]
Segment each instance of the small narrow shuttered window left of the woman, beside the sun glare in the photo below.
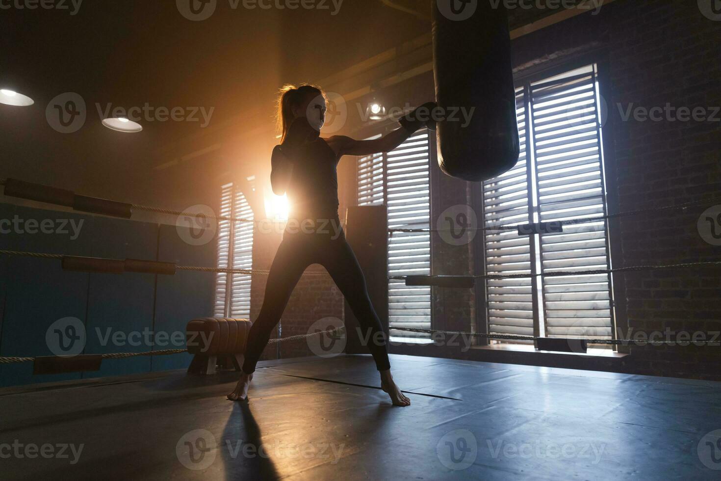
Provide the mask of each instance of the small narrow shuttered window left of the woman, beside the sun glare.
[{"label": "small narrow shuttered window left of the woman, beside the sun glare", "polygon": [[[253,219],[245,195],[232,183],[221,187],[221,216]],[[218,221],[218,268],[252,269],[252,222]],[[218,273],[216,277],[216,317],[250,317],[250,282],[245,274]]]}]

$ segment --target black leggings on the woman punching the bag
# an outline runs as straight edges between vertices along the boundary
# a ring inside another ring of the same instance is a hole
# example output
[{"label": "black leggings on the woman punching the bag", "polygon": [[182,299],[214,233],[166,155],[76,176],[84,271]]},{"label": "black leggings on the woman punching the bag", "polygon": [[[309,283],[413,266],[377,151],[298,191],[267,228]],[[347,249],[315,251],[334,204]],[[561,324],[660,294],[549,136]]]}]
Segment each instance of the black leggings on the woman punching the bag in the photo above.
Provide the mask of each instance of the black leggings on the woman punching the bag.
[{"label": "black leggings on the woman punching the bag", "polygon": [[[373,309],[371,298],[368,297],[366,278],[358,265],[358,259],[345,240],[345,234],[342,231],[340,235],[286,231],[273,259],[273,265],[270,266],[260,314],[250,328],[243,372],[251,374],[255,371],[258,358],[267,345],[270,332],[280,321],[293,288],[303,271],[311,264],[320,264],[326,268],[348,300],[350,309],[365,334],[363,338],[368,339],[368,349],[376,361],[376,368],[379,371],[391,369],[381,321]],[[370,336],[366,337],[368,333]]]}]

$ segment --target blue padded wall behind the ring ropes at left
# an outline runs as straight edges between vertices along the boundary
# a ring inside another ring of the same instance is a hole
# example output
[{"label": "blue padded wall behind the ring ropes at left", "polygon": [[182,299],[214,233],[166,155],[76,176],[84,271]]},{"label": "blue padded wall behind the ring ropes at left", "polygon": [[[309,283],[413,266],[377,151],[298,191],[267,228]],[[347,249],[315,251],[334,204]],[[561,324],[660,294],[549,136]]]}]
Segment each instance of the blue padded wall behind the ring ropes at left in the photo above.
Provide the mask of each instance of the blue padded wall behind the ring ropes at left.
[{"label": "blue padded wall behind the ring ropes at left", "polygon": [[[174,226],[0,204],[0,220],[16,215],[24,220],[72,219],[83,224],[76,239],[71,239],[71,229],[68,234],[0,234],[0,249],[183,265],[216,262],[215,239],[192,246],[183,242]],[[0,356],[53,356],[45,334],[63,317],[83,323],[85,354],[184,348],[147,343],[146,332],[185,332],[190,319],[211,316],[214,286],[212,273],[75,273],[63,271],[60,260],[0,255]],[[113,340],[117,333],[120,343]],[[132,333],[141,337],[128,338]],[[131,345],[130,340],[140,344]],[[185,369],[189,363],[187,354],[106,359],[97,372],[43,376],[32,375],[32,363],[5,364],[0,365],[0,386]]]}]

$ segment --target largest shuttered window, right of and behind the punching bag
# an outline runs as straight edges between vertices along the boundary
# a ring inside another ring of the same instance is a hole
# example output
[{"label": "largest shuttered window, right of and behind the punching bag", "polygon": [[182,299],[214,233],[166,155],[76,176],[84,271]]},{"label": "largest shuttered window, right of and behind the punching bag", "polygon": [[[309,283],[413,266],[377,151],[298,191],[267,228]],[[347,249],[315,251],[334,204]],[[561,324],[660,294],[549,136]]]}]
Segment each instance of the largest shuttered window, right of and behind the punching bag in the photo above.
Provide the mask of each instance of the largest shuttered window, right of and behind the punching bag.
[{"label": "largest shuttered window, right of and behind the punching bag", "polygon": [[[527,82],[516,90],[518,164],[483,183],[485,227],[606,214],[597,67]],[[606,221],[562,234],[485,231],[488,274],[610,268]],[[610,339],[609,275],[487,281],[488,330],[497,334]]]}]

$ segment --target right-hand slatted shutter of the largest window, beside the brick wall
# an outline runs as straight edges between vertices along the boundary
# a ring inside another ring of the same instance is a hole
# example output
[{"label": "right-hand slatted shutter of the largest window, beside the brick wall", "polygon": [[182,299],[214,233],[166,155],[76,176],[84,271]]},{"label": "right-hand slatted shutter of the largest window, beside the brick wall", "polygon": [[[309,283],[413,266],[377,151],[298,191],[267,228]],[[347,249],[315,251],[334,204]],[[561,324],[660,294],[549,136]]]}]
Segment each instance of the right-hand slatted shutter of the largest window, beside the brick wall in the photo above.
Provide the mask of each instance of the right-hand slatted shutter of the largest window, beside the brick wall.
[{"label": "right-hand slatted shutter of the largest window, beside the brick wall", "polygon": [[[596,69],[588,66],[531,85],[541,221],[604,216]],[[606,222],[564,226],[540,236],[543,272],[609,268]],[[611,338],[609,275],[543,278],[548,337]]]}]

